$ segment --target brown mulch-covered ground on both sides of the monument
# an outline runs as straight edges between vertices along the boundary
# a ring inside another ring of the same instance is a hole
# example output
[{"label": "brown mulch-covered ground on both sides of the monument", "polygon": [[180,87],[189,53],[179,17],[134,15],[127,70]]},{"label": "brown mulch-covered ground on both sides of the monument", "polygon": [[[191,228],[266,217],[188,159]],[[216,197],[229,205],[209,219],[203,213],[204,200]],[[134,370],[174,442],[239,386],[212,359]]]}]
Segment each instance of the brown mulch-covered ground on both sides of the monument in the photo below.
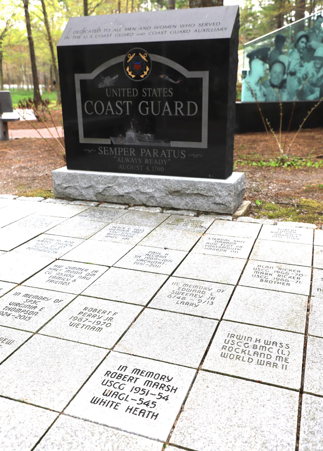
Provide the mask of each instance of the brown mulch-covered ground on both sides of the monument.
[{"label": "brown mulch-covered ground on both sides of the monument", "polygon": [[[52,110],[56,125],[61,124],[60,110]],[[45,127],[33,121],[37,128]],[[48,117],[47,126],[53,123]],[[9,124],[10,129],[29,128],[25,121]],[[289,139],[294,136],[291,132]],[[272,143],[272,147],[270,145]],[[323,166],[319,168],[281,168],[241,166],[239,160],[269,161],[279,152],[266,133],[244,133],[235,135],[235,170],[244,171],[247,180],[245,198],[253,204],[261,202],[286,202],[301,198],[323,202]],[[55,149],[53,149],[52,147]],[[323,129],[303,129],[295,140],[291,156],[312,161],[323,160]],[[47,143],[39,138],[22,138],[0,142],[0,193],[26,194],[37,190],[52,191],[51,171],[65,166],[61,151],[53,139]],[[321,222],[321,221],[320,221]],[[322,220],[323,222],[323,220]]]}]

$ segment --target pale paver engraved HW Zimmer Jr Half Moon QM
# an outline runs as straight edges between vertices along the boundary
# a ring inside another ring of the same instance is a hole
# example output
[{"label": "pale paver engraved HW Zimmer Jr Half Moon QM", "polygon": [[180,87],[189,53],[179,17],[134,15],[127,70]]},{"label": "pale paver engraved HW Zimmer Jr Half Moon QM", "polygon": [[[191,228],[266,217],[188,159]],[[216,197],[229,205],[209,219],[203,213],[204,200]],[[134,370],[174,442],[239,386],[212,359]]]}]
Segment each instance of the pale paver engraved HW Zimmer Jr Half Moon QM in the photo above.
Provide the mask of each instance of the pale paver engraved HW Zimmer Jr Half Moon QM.
[{"label": "pale paver engraved HW Zimmer Jr Half Moon QM", "polygon": [[59,260],[28,279],[25,285],[79,295],[106,269],[104,266]]}]

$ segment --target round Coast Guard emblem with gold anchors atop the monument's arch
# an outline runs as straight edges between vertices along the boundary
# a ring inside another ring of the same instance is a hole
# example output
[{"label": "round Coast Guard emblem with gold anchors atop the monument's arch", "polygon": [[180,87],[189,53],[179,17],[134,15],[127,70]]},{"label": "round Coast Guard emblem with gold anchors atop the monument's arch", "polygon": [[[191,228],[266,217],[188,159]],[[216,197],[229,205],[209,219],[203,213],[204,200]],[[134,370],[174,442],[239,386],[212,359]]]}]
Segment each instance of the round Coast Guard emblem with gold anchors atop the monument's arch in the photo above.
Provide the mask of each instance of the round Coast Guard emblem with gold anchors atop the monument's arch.
[{"label": "round Coast Guard emblem with gold anchors atop the monument's arch", "polygon": [[125,73],[130,80],[140,82],[148,77],[152,62],[148,53],[143,49],[131,49],[125,56]]}]

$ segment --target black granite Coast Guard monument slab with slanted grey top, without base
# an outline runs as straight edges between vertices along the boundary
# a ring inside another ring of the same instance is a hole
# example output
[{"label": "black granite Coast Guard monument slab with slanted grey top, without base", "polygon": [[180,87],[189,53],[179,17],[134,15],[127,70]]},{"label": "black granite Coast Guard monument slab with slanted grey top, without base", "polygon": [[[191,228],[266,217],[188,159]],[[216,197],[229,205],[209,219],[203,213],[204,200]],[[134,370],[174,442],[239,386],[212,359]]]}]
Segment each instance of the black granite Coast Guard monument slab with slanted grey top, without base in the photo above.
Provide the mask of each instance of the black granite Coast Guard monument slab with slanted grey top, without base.
[{"label": "black granite Coast Guard monument slab with slanted grey top, without base", "polygon": [[67,169],[229,177],[238,31],[238,6],[69,19]]}]

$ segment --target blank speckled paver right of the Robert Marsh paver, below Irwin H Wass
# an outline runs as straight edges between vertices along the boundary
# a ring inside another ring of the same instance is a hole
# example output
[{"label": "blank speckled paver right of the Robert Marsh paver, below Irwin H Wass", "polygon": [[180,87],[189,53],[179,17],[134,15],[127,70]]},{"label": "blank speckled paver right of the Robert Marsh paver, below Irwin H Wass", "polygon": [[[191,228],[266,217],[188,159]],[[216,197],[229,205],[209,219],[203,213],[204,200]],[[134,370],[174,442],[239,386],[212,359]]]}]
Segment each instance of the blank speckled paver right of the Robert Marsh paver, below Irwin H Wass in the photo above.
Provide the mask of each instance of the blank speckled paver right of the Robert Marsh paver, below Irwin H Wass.
[{"label": "blank speckled paver right of the Robert Marsh paver, below Irwin H Wass", "polygon": [[298,398],[295,391],[200,371],[171,443],[197,451],[294,451]]}]

